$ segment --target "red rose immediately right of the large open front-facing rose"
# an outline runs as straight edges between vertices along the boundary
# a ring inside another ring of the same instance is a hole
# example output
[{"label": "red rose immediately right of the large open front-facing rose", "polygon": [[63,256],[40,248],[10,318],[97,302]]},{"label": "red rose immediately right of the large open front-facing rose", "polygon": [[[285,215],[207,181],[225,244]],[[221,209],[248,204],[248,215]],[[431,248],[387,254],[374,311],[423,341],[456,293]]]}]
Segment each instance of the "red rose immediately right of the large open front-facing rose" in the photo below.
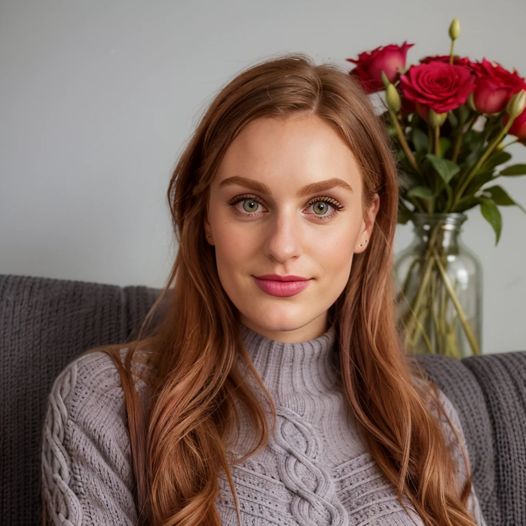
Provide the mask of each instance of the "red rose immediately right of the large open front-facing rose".
[{"label": "red rose immediately right of the large open front-facing rose", "polygon": [[471,68],[477,74],[473,101],[481,113],[501,112],[524,84],[524,79],[515,70],[510,73],[498,62],[492,63],[485,58]]}]

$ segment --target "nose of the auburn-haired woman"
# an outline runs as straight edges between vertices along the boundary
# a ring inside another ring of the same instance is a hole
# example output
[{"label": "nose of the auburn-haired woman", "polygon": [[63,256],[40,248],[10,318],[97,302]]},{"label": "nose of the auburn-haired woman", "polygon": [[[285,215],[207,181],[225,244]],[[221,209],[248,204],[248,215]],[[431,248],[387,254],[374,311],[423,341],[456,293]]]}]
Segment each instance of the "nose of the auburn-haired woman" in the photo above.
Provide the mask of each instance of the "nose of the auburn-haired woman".
[{"label": "nose of the auburn-haired woman", "polygon": [[279,263],[291,258],[299,258],[303,253],[302,231],[299,219],[292,214],[276,214],[268,222],[268,232],[264,239],[264,254]]}]

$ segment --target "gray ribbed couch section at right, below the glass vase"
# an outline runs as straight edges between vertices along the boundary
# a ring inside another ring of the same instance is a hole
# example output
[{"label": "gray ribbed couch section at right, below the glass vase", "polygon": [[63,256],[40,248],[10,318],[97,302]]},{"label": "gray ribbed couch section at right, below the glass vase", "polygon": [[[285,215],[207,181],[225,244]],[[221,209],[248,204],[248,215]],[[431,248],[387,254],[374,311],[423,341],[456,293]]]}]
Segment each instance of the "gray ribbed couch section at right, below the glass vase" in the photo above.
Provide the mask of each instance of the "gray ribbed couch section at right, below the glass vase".
[{"label": "gray ribbed couch section at right, below the glass vase", "polygon": [[486,521],[525,526],[526,351],[418,362],[458,409]]}]

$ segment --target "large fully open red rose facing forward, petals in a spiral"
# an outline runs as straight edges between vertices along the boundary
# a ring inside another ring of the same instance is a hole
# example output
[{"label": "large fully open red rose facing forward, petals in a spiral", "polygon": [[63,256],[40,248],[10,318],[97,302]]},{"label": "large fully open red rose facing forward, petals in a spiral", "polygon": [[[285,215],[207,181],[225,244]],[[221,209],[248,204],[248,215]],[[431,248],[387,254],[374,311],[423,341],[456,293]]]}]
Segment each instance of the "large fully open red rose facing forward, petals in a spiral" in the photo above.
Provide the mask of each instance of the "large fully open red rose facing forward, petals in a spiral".
[{"label": "large fully open red rose facing forward, petals in a spiral", "polygon": [[429,62],[400,75],[400,86],[406,99],[420,103],[426,111],[445,113],[466,102],[475,89],[475,75],[464,66]]}]

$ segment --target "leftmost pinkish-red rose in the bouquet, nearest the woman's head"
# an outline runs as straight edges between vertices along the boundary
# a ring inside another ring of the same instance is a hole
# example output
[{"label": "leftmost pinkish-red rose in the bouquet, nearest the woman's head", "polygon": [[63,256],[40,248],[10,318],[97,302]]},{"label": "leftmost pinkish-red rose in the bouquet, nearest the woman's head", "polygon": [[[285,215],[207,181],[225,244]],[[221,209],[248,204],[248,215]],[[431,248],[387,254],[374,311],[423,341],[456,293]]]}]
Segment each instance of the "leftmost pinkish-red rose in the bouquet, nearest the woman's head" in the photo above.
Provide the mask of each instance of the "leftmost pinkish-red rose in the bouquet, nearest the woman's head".
[{"label": "leftmost pinkish-red rose in the bouquet, nearest the woman's head", "polygon": [[381,72],[384,71],[390,82],[396,82],[399,70],[405,68],[405,57],[408,49],[414,44],[403,42],[401,46],[391,44],[385,47],[377,47],[371,52],[358,55],[358,60],[347,58],[356,67],[349,71],[349,75],[355,77],[366,93],[374,93],[384,89],[381,81]]}]

